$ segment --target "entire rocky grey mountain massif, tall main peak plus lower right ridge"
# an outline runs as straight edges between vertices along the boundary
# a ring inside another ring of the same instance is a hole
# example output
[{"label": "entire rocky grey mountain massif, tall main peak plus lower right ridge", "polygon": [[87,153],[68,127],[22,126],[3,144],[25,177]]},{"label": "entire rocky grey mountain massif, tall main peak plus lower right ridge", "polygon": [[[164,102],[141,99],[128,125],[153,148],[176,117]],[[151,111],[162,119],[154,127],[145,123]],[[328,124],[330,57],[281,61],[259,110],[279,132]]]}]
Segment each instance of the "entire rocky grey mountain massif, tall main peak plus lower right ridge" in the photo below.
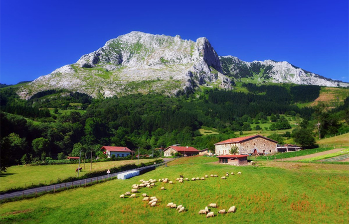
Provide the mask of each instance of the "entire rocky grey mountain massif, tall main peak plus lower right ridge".
[{"label": "entire rocky grey mountain massif, tall main peak plus lower right ridge", "polygon": [[194,42],[182,40],[179,35],[134,31],[107,41],[74,64],[23,85],[17,93],[22,99],[52,89],[94,98],[151,92],[174,95],[199,86],[232,89],[234,81],[349,86],[288,62],[244,62],[233,56],[218,57],[204,37]]}]

